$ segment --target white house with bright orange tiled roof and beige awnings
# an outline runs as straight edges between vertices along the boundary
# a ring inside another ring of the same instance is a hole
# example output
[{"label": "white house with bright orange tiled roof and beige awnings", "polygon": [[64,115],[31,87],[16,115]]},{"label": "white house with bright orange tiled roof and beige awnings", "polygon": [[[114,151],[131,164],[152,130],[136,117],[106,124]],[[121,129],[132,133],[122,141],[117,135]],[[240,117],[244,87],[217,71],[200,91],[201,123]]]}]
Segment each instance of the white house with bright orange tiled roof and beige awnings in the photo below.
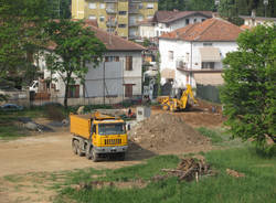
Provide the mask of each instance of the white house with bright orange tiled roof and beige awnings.
[{"label": "white house with bright orange tiled roof and beige awnings", "polygon": [[242,30],[222,19],[208,19],[164,33],[159,39],[161,83],[174,88],[187,84],[220,85],[222,60],[237,50]]}]

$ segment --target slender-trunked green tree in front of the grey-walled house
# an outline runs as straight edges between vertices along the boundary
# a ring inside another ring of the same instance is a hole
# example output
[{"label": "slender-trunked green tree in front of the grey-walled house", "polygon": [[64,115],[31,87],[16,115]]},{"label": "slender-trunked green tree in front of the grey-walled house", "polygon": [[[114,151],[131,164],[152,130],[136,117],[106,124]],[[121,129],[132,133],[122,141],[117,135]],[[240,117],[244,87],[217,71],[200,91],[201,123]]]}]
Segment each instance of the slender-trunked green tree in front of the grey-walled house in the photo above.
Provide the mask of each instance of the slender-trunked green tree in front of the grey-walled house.
[{"label": "slender-trunked green tree in front of the grey-walled house", "polygon": [[57,73],[65,84],[64,106],[67,107],[70,85],[75,79],[84,79],[88,72],[87,63],[94,67],[100,62],[105,45],[94,35],[89,28],[71,20],[51,21],[45,26],[55,47],[46,53],[47,68]]}]

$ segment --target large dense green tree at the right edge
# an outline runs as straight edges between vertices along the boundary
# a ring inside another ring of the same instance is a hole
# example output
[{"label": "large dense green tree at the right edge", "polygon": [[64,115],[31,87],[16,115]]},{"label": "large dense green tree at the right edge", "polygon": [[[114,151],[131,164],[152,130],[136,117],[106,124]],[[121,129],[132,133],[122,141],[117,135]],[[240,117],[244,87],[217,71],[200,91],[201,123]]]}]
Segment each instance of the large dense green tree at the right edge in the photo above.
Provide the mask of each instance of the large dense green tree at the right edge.
[{"label": "large dense green tree at the right edge", "polygon": [[240,34],[238,50],[227,54],[221,93],[225,122],[234,137],[266,149],[276,142],[276,25]]}]

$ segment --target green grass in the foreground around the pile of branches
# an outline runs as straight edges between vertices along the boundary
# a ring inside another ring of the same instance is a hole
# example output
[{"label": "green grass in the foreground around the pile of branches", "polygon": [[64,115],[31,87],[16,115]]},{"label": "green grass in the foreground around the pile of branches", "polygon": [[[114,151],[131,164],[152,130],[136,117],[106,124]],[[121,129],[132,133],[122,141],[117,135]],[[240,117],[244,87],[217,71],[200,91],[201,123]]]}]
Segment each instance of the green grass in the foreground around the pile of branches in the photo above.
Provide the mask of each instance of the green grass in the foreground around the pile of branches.
[{"label": "green grass in the foreground around the pile of branches", "polygon": [[[252,148],[232,148],[205,153],[216,177],[200,179],[197,183],[178,182],[176,178],[164,181],[149,181],[161,174],[162,168],[176,168],[179,159],[174,156],[155,157],[146,164],[127,167],[118,170],[96,171],[94,169],[75,171],[67,174],[67,186],[57,186],[60,195],[55,202],[105,202],[105,203],[178,203],[178,202],[275,202],[276,200],[276,158],[263,158]],[[243,172],[245,178],[233,178],[226,169]],[[117,189],[107,186],[99,189],[75,190],[71,184],[89,182],[93,174],[103,174],[97,180],[130,181],[142,179],[149,182],[144,189]]]}]

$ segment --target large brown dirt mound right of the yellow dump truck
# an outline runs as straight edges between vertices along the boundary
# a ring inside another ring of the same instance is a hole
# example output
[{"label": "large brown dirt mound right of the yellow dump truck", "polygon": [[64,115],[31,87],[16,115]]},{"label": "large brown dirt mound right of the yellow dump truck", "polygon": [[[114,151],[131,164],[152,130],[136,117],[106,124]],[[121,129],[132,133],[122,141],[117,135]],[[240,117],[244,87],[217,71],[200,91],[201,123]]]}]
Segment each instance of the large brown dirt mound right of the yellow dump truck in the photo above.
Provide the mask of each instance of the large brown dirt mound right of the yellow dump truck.
[{"label": "large brown dirt mound right of the yellow dump truck", "polygon": [[129,137],[141,148],[158,153],[198,152],[211,149],[208,138],[187,125],[182,117],[170,113],[153,115],[141,121],[131,129]]}]

